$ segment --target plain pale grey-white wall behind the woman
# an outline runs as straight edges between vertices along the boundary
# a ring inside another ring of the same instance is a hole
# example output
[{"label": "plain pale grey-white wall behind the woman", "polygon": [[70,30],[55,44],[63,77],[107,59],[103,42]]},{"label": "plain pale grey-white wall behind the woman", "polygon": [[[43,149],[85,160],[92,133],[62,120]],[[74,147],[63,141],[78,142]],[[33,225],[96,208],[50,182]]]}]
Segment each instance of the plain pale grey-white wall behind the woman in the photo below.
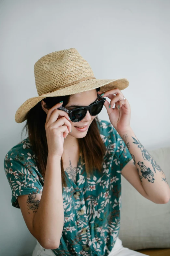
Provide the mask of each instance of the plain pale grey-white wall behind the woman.
[{"label": "plain pale grey-white wall behind the woman", "polygon": [[[168,0],[0,1],[0,255],[30,256],[36,244],[21,210],[11,206],[4,171],[5,155],[22,140],[25,124],[15,122],[15,112],[38,96],[35,62],[76,48],[97,79],[127,78],[122,93],[135,135],[148,150],[169,146],[169,12]],[[99,118],[109,121],[105,107]]]}]

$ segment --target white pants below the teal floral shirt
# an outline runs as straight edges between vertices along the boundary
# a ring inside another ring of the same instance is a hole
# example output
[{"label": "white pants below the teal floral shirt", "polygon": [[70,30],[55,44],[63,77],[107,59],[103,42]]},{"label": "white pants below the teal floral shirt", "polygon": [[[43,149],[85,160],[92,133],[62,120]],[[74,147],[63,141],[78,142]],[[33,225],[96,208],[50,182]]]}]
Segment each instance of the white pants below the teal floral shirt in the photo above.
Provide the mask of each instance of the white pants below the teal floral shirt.
[{"label": "white pants below the teal floral shirt", "polygon": [[[37,240],[36,240],[37,241]],[[127,247],[122,246],[122,241],[119,237],[115,242],[115,245],[108,256],[144,256],[146,254],[130,250]],[[44,249],[37,241],[32,256],[56,256],[52,250]]]}]

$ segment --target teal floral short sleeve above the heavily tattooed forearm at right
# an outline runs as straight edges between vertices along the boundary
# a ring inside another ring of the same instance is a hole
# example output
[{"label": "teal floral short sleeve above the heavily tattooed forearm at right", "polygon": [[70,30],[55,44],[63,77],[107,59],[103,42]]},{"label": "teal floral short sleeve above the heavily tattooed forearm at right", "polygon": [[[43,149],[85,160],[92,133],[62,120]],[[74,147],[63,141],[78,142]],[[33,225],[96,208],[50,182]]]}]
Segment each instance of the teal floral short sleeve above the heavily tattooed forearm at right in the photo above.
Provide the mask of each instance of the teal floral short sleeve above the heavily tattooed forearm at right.
[{"label": "teal floral short sleeve above the heavily tattooed forearm at right", "polygon": [[132,159],[132,156],[131,156],[125,142],[123,141],[123,139],[117,132],[117,130],[114,127],[112,127],[112,128],[113,128],[113,132],[115,134],[116,152],[118,152],[118,155],[119,155],[120,172],[121,172],[123,167]]}]

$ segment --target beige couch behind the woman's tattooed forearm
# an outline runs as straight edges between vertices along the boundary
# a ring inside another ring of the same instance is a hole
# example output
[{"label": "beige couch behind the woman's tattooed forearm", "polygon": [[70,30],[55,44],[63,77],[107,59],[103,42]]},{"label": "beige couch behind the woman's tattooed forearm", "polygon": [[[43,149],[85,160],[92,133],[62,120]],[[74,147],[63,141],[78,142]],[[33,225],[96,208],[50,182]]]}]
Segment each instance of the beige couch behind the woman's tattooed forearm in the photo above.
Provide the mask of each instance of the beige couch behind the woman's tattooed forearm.
[{"label": "beige couch behind the woman's tattooed forearm", "polygon": [[[148,152],[160,165],[170,185],[170,147]],[[141,196],[122,175],[121,185],[119,238],[122,245],[147,255],[170,256],[170,201],[153,203]]]}]

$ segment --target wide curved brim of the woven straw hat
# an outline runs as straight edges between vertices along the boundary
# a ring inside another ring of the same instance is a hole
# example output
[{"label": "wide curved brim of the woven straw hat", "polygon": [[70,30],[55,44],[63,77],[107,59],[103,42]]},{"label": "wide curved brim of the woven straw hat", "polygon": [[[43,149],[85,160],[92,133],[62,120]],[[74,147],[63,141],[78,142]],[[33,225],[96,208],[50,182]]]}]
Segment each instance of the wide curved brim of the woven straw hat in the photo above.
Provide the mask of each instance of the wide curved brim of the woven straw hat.
[{"label": "wide curved brim of the woven straw hat", "polygon": [[85,80],[77,84],[64,87],[50,94],[44,94],[43,96],[36,96],[36,97],[27,99],[16,111],[15,121],[17,123],[24,122],[26,120],[26,114],[30,111],[30,109],[33,108],[39,101],[41,101],[46,97],[71,95],[71,94],[81,93],[85,91],[90,91],[98,87],[100,87],[100,91],[103,91],[103,92],[106,92],[114,88],[119,88],[120,90],[123,90],[127,88],[128,85],[129,85],[129,81],[126,78]]}]

